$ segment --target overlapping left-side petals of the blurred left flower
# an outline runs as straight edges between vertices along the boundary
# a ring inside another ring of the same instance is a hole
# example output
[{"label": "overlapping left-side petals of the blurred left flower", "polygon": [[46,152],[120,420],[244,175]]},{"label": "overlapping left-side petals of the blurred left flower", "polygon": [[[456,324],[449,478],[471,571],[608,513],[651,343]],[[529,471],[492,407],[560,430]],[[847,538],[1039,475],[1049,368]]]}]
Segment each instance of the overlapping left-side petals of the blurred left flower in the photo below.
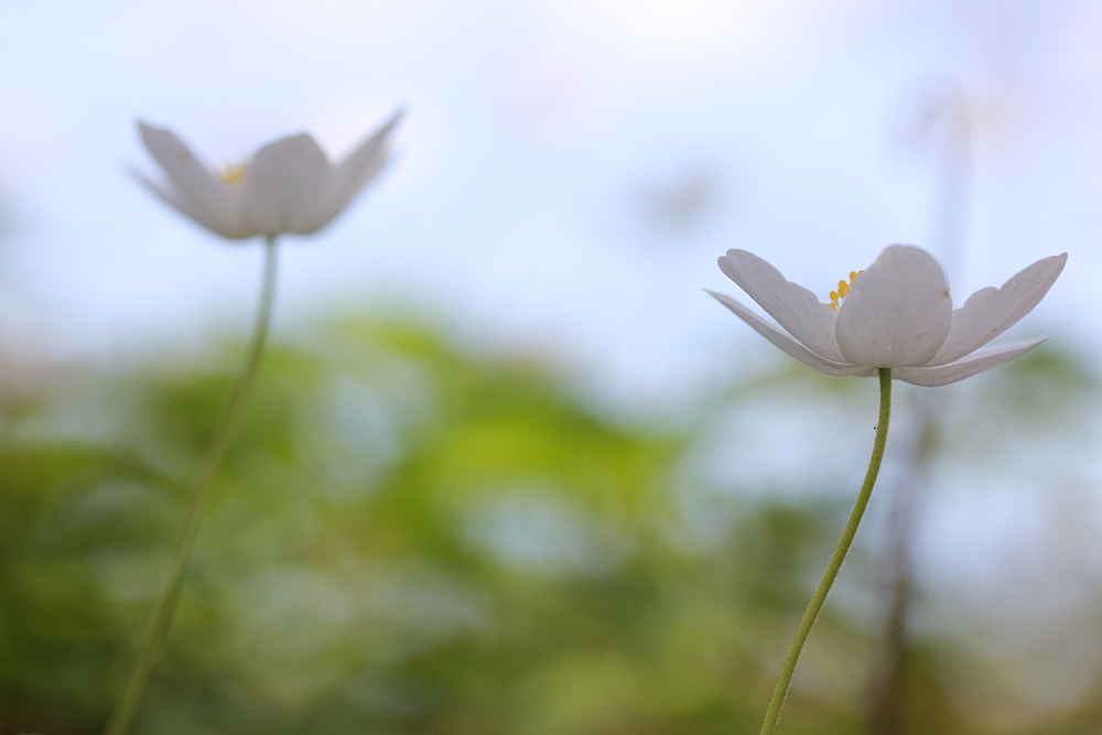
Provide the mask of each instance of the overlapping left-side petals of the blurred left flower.
[{"label": "overlapping left-side petals of the blurred left flower", "polygon": [[179,139],[164,128],[138,121],[142,141],[169,175],[172,186],[163,188],[147,176],[139,180],[165,202],[204,227],[228,238],[249,237],[238,217],[238,194],[210,171]]}]

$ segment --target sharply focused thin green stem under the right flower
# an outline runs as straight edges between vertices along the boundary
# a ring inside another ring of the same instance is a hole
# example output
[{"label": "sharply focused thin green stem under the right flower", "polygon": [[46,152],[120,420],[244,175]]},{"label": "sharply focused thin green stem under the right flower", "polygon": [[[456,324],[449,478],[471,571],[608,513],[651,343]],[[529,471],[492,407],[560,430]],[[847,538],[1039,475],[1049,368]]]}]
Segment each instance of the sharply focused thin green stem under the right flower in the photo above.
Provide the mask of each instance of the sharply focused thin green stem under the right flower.
[{"label": "sharply focused thin green stem under the right flower", "polygon": [[861,525],[861,517],[865,514],[868,498],[873,495],[873,485],[876,484],[876,475],[880,471],[880,462],[884,460],[884,447],[888,441],[888,419],[892,417],[892,368],[880,368],[880,414],[876,423],[876,439],[873,441],[873,456],[868,460],[868,471],[865,473],[865,482],[861,485],[857,494],[857,501],[850,511],[850,520],[845,522],[842,538],[838,540],[834,554],[830,558],[823,579],[815,588],[815,594],[811,596],[808,609],[800,620],[800,627],[796,629],[796,638],[788,648],[788,656],[785,657],[785,666],[781,667],[777,685],[773,690],[773,699],[769,700],[769,709],[765,713],[765,723],[761,725],[761,735],[773,735],[777,728],[777,720],[780,717],[780,709],[785,705],[785,696],[788,694],[788,687],[792,682],[792,673],[796,671],[796,662],[800,660],[803,651],[803,644],[808,640],[811,626],[815,624],[819,612],[827,602],[827,595],[842,569],[842,562],[850,551],[853,537],[857,533],[857,526]]}]

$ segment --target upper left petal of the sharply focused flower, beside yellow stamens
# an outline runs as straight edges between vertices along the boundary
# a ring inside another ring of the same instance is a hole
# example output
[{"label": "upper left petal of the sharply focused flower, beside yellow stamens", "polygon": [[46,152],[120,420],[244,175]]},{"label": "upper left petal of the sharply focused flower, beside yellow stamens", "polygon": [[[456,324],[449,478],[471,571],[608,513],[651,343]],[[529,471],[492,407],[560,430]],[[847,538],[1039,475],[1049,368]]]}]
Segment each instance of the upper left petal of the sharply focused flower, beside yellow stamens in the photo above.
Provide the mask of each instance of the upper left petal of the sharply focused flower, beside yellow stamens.
[{"label": "upper left petal of the sharply focused flower, beside yellow stamens", "polygon": [[727,250],[720,269],[811,352],[833,363],[845,361],[834,341],[834,310],[815,294],[746,250]]}]

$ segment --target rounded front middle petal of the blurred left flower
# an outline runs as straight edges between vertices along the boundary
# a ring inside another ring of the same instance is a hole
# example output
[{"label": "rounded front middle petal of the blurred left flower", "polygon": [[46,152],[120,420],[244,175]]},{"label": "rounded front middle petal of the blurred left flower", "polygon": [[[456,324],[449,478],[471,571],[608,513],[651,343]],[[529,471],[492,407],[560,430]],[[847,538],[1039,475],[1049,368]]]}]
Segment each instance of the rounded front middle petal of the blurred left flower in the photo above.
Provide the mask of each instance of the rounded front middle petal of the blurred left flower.
[{"label": "rounded front middle petal of the blurred left flower", "polygon": [[[260,235],[309,235],[328,224],[333,169],[306,134],[268,143],[252,158],[240,186],[245,220]],[[334,213],[335,214],[335,213]]]}]

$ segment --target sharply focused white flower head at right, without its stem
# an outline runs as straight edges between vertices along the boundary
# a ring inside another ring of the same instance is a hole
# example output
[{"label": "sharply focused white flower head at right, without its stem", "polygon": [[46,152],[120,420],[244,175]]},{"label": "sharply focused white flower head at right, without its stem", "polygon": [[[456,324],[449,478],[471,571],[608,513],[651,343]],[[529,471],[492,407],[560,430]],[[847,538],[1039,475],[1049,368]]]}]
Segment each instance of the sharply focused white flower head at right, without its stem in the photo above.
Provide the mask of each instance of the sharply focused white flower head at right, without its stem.
[{"label": "sharply focused white flower head at right, without its stem", "polygon": [[[804,365],[833,376],[892,376],[918,386],[944,386],[1002,365],[1045,341],[984,347],[1048,293],[1068,253],[1038,260],[1007,281],[986,288],[953,310],[941,266],[925,250],[893,245],[868,269],[851,273],[822,303],[802,287],[745,250],[728,250],[720,268],[784,332],[741,303],[712,293],[763,337]],[[981,349],[982,348],[982,349]]]}]

